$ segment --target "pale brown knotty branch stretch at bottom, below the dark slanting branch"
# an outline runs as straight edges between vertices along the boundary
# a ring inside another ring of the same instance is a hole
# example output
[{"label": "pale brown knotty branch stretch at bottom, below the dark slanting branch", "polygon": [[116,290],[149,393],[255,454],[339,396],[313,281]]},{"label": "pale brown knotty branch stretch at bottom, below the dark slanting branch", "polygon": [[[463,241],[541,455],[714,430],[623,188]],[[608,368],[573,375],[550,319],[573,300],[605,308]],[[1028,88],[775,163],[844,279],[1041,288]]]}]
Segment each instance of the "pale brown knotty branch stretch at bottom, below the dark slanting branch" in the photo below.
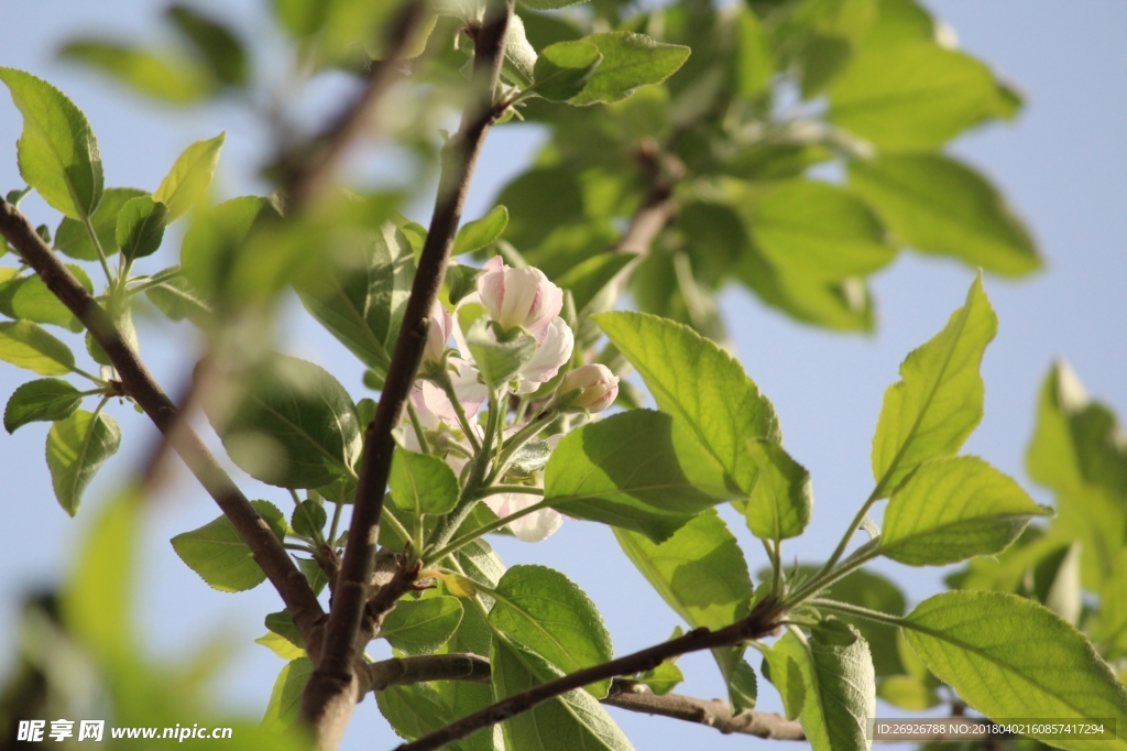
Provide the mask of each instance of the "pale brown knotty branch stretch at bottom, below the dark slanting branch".
[{"label": "pale brown knotty branch stretch at bottom, below the dark slanting branch", "polygon": [[639,691],[637,684],[630,681],[614,681],[611,691],[603,704],[641,712],[648,715],[662,715],[673,719],[683,719],[715,727],[724,734],[739,733],[777,741],[805,741],[806,733],[798,721],[787,719],[782,715],[767,712],[742,712],[731,714],[731,707],[720,699],[698,699],[682,693],[657,695],[653,691]]}]

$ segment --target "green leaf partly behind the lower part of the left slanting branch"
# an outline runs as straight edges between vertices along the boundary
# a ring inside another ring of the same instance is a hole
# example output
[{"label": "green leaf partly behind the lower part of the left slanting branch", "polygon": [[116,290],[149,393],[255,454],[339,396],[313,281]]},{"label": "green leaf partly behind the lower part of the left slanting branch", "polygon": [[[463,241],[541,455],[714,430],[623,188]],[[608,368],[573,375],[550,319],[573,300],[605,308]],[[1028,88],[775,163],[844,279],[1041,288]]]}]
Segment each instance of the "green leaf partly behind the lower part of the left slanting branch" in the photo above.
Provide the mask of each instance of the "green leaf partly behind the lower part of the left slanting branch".
[{"label": "green leaf partly behind the lower part of the left slanting branch", "polygon": [[[269,524],[274,536],[283,539],[285,516],[277,506],[267,501],[250,503]],[[207,582],[208,586],[220,592],[243,592],[266,581],[266,574],[255,563],[250,547],[243,542],[234,524],[225,515],[199,529],[177,534],[171,541],[180,560]],[[268,621],[267,628],[270,628]]]}]

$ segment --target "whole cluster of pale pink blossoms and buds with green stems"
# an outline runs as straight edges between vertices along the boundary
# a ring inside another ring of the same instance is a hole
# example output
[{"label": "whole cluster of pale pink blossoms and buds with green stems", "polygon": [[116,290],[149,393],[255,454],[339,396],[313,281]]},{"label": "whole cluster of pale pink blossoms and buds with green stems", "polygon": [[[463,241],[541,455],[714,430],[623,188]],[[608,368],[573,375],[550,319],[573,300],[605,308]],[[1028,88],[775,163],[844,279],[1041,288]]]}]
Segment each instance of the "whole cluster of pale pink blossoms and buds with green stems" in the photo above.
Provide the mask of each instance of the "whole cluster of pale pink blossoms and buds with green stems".
[{"label": "whole cluster of pale pink blossoms and buds with green stems", "polygon": [[[494,339],[531,336],[535,343],[515,376],[494,394],[468,344],[470,332],[459,325],[463,318],[459,312],[467,306],[485,310],[486,330]],[[486,495],[483,503],[502,519],[517,514],[507,527],[529,542],[548,538],[564,518],[548,507],[521,513],[541,501],[543,487],[543,461],[521,461],[521,450],[534,443],[544,454],[560,435],[545,440],[538,435],[556,417],[565,412],[601,412],[618,395],[618,378],[600,364],[571,370],[545,394],[544,385],[557,379],[575,350],[575,336],[560,317],[562,306],[564,291],[543,272],[512,268],[500,257],[491,258],[476,291],[459,301],[454,311],[438,302],[432,308],[420,378],[411,391],[410,419],[402,426],[406,449],[442,457],[463,484],[473,481],[478,471],[504,485],[506,492]],[[449,346],[451,339],[456,346]],[[490,415],[485,419],[483,406]],[[512,418],[506,421],[505,414]],[[511,489],[521,486],[530,493]]]}]

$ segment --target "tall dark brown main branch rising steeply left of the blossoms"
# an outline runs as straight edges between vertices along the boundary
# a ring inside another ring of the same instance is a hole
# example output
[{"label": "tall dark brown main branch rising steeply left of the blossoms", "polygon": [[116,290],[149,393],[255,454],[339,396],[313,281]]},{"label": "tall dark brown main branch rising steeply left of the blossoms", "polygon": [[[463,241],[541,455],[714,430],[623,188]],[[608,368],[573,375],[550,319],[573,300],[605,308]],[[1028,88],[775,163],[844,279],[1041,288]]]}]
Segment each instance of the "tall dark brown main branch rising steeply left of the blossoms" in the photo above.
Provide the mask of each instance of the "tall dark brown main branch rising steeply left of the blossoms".
[{"label": "tall dark brown main branch rising steeply left of the blossoms", "polygon": [[334,593],[325,648],[302,696],[302,715],[317,728],[322,748],[336,748],[357,699],[360,687],[354,665],[362,648],[357,635],[363,628],[380,532],[380,515],[383,511],[383,494],[394,450],[391,431],[399,423],[415,382],[426,344],[427,319],[445,276],[450,248],[461,221],[470,178],[486,133],[499,114],[494,105],[494,96],[512,14],[513,0],[494,0],[485,24],[477,32],[473,61],[476,98],[467,107],[458,134],[443,150],[443,168],[431,228],[419,257],[380,404],[364,433],[364,454],[348,545]]}]

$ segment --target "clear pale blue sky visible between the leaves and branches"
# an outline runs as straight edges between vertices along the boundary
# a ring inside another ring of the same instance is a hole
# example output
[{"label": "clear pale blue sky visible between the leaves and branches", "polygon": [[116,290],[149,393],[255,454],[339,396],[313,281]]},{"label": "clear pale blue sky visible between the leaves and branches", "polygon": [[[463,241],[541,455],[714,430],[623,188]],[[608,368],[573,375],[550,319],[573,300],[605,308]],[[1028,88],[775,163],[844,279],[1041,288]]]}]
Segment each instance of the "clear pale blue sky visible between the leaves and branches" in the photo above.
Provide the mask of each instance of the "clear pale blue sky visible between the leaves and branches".
[{"label": "clear pale blue sky visible between the leaves and branches", "polygon": [[[249,38],[276,48],[265,30],[261,3],[219,0],[201,3],[233,19]],[[1054,357],[1066,359],[1094,396],[1127,410],[1127,5],[1115,0],[931,0],[935,14],[958,32],[967,51],[985,59],[1028,95],[1014,124],[992,125],[955,144],[960,157],[982,167],[1026,218],[1047,258],[1038,275],[1018,282],[987,277],[1000,317],[999,336],[986,352],[986,416],[967,444],[1030,487],[1023,468],[1033,424],[1037,389]],[[101,30],[124,38],[152,38],[163,2],[152,0],[0,0],[0,64],[44,77],[88,115],[101,147],[107,186],[154,189],[189,142],[228,131],[219,187],[223,197],[263,192],[255,167],[267,148],[252,118],[231,106],[203,112],[158,107],[85,71],[55,62],[57,44],[78,33]],[[341,87],[337,92],[343,94]],[[325,100],[334,94],[323,92]],[[323,112],[316,101],[311,113]],[[21,187],[15,142],[20,120],[0,96],[0,189]],[[467,215],[480,215],[496,191],[521,171],[542,134],[534,127],[496,131],[487,145]],[[369,165],[388,165],[369,159]],[[384,175],[384,177],[389,177]],[[394,177],[394,176],[390,176]],[[38,200],[25,207],[52,229],[57,214]],[[175,263],[176,237],[143,268]],[[8,259],[5,259],[8,262]],[[160,263],[163,262],[163,263]],[[3,262],[0,262],[3,263]],[[822,559],[871,491],[869,447],[884,389],[897,378],[903,357],[958,308],[973,272],[946,259],[904,254],[873,280],[879,328],[871,337],[815,330],[765,309],[747,292],[731,289],[722,309],[740,360],[775,405],[790,453],[811,471],[815,516],[807,534],[784,548],[788,557]],[[190,328],[140,325],[143,355],[158,379],[176,392],[194,362]],[[335,341],[303,317],[286,313],[281,346],[337,374],[354,397],[363,395],[361,369]],[[78,345],[79,347],[81,345]],[[29,374],[0,364],[0,397]],[[59,507],[43,460],[47,426],[36,423],[15,436],[0,433],[0,674],[10,665],[20,598],[65,572],[78,536],[106,492],[134,470],[156,440],[147,418],[114,405],[124,440],[121,452],[87,493],[77,520]],[[248,495],[289,510],[287,496],[250,480]],[[1045,501],[1044,494],[1031,488]],[[174,554],[168,539],[216,515],[214,504],[184,471],[149,515],[140,598],[145,648],[163,659],[184,656],[218,631],[239,651],[219,690],[228,706],[260,714],[281,661],[250,640],[264,633],[261,618],[281,602],[268,585],[231,595],[210,590]],[[753,572],[765,565],[758,545],[739,520],[726,514],[746,542]],[[605,528],[569,522],[548,541],[498,540],[509,565],[541,563],[567,573],[594,599],[624,654],[668,636],[676,616],[654,594],[618,550]],[[941,587],[942,569],[915,569],[878,562],[917,602]],[[753,660],[753,662],[757,662]],[[722,696],[707,656],[686,656],[683,690]],[[774,709],[773,689],[761,686],[761,708]],[[640,750],[735,749],[764,745],[747,736],[721,736],[706,727],[614,710]],[[891,714],[890,712],[886,714]],[[181,722],[195,722],[185,717]],[[369,698],[357,710],[345,748],[390,749],[397,740]]]}]

